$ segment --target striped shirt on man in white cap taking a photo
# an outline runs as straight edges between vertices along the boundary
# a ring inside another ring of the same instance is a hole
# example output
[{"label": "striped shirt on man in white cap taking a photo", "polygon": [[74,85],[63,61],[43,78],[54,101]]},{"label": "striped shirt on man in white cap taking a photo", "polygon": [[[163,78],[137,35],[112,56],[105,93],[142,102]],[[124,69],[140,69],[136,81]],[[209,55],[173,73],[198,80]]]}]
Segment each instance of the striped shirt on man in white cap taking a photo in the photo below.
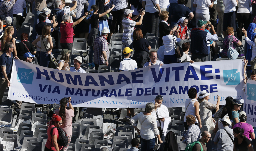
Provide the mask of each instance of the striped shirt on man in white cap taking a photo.
[{"label": "striped shirt on man in white cap taking a photo", "polygon": [[132,36],[133,36],[134,26],[136,25],[136,22],[127,18],[127,17],[125,17],[122,20],[122,24],[123,24],[123,27],[124,27],[122,42],[124,44],[131,45],[132,40],[133,40]]}]

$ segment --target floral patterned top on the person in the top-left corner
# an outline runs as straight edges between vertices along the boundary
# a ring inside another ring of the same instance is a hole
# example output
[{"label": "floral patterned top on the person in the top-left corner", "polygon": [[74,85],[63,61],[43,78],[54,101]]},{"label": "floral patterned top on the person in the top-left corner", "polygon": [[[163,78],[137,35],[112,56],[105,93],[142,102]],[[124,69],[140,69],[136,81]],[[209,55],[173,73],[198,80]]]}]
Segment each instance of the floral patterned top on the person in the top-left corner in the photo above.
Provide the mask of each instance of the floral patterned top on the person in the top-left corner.
[{"label": "floral patterned top on the person in the top-left corner", "polygon": [[13,6],[14,6],[15,1],[2,1],[0,3],[0,15],[4,16],[10,16],[13,18]]}]

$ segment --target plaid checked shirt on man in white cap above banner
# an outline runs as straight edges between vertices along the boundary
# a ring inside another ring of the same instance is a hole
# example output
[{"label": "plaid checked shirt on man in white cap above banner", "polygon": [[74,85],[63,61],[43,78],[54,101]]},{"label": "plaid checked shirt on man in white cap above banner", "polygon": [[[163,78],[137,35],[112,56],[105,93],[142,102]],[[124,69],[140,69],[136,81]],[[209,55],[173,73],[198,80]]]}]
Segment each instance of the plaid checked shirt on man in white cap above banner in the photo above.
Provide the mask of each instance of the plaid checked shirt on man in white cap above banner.
[{"label": "plaid checked shirt on man in white cap above banner", "polygon": [[102,35],[98,36],[94,40],[94,57],[93,57],[93,62],[95,64],[104,64],[106,63],[102,51],[106,51],[107,58],[109,58],[109,45],[105,37]]}]

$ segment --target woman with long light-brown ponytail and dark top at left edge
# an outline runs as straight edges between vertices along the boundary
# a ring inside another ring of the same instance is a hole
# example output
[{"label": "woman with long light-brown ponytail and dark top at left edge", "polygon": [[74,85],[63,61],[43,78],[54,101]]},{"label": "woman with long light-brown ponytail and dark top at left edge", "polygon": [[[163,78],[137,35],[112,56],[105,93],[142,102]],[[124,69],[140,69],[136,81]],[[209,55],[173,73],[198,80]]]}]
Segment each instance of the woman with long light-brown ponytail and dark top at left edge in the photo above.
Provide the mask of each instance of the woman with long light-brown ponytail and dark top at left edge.
[{"label": "woman with long light-brown ponytail and dark top at left edge", "polygon": [[12,37],[12,35],[14,34],[14,28],[13,26],[8,26],[7,28],[5,28],[4,30],[4,36],[2,37],[2,42],[1,42],[1,51],[5,52],[4,50],[4,46],[6,42],[12,42],[13,43],[13,54],[15,56],[17,56],[17,50],[16,50],[16,39],[14,37]]}]

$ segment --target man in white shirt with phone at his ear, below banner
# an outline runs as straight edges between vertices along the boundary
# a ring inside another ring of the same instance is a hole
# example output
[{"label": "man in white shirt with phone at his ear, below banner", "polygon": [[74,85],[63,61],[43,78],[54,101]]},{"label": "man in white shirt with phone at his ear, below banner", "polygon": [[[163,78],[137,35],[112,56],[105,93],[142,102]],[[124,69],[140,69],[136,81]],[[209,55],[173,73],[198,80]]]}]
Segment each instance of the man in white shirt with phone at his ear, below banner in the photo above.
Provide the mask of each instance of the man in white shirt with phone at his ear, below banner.
[{"label": "man in white shirt with phone at his ear, below banner", "polygon": [[157,128],[160,132],[161,140],[164,140],[167,133],[168,125],[171,122],[171,117],[169,116],[167,107],[163,105],[162,95],[156,96],[155,111],[153,111],[151,115],[156,117]]}]

